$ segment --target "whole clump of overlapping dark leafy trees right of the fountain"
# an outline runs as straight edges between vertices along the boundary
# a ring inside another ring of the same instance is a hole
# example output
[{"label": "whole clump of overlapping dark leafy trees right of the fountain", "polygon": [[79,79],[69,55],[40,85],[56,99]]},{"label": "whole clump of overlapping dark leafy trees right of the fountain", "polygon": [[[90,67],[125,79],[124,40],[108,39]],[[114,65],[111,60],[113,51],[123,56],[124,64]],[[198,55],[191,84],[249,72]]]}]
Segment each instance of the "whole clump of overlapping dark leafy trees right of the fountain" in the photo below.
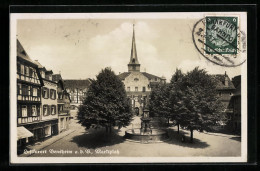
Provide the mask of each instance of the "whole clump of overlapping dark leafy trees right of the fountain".
[{"label": "whole clump of overlapping dark leafy trees right of the fountain", "polygon": [[223,118],[216,81],[198,67],[186,74],[177,69],[170,84],[152,91],[150,110],[190,130],[192,141],[193,130],[208,130]]}]

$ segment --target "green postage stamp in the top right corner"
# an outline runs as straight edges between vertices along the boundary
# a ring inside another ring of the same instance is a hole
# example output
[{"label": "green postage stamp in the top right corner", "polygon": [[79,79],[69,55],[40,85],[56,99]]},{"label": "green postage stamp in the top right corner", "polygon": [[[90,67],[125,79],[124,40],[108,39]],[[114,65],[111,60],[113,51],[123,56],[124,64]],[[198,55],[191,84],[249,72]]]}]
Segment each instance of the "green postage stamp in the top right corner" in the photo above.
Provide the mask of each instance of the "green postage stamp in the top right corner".
[{"label": "green postage stamp in the top right corner", "polygon": [[237,54],[238,17],[206,17],[206,53]]}]

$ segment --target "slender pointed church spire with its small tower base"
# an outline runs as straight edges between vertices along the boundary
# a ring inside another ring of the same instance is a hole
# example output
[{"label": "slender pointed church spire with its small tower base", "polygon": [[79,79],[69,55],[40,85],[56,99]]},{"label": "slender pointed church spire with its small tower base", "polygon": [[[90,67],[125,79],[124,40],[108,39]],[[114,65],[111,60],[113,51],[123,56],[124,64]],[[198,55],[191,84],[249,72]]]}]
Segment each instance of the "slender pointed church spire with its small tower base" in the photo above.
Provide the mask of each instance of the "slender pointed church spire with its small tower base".
[{"label": "slender pointed church spire with its small tower base", "polygon": [[133,38],[130,62],[128,64],[128,72],[140,72],[140,64],[137,59],[136,45],[135,45],[135,25],[133,25]]}]

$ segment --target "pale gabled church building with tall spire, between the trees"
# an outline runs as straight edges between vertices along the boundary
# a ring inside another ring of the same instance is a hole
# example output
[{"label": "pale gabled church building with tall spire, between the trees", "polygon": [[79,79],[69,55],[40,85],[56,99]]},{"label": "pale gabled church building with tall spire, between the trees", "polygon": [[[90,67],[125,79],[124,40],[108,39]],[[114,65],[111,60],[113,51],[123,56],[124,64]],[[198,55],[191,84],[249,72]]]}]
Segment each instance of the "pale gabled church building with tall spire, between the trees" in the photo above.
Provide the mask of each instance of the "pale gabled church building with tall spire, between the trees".
[{"label": "pale gabled church building with tall spire, between the trees", "polygon": [[147,104],[152,88],[156,84],[166,83],[164,77],[158,77],[147,72],[140,71],[141,64],[137,58],[137,50],[135,43],[135,30],[133,27],[133,38],[131,56],[128,64],[128,72],[118,75],[125,85],[127,97],[131,101],[132,109],[136,115],[143,114],[143,109]]}]

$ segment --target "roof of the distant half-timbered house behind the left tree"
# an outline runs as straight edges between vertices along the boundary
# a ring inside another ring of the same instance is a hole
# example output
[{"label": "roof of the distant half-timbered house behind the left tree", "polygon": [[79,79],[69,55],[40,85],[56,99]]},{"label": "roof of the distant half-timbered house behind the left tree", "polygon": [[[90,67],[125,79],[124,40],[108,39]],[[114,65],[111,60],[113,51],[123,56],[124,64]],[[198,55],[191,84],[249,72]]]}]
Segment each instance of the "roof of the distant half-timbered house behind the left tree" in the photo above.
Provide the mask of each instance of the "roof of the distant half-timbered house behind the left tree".
[{"label": "roof of the distant half-timbered house behind the left tree", "polygon": [[85,89],[88,88],[91,84],[89,79],[85,80],[63,80],[64,87],[69,89]]}]

